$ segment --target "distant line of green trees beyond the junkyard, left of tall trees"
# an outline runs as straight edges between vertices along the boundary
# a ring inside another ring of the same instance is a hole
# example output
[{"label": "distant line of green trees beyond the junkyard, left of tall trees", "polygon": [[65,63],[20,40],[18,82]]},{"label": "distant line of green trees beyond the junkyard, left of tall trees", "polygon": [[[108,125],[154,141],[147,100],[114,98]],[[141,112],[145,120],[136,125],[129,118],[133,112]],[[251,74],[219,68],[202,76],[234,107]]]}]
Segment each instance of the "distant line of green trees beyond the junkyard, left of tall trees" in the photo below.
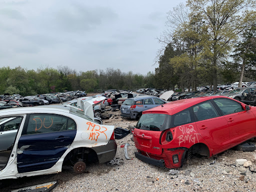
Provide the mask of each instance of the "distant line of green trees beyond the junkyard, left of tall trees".
[{"label": "distant line of green trees beyond the junkyard, left of tall trees", "polygon": [[27,70],[21,66],[0,68],[0,94],[20,94],[22,96],[64,90],[86,90],[86,92],[106,89],[138,89],[152,87],[153,74],[125,73],[120,69],[79,71],[67,66],[40,67]]}]

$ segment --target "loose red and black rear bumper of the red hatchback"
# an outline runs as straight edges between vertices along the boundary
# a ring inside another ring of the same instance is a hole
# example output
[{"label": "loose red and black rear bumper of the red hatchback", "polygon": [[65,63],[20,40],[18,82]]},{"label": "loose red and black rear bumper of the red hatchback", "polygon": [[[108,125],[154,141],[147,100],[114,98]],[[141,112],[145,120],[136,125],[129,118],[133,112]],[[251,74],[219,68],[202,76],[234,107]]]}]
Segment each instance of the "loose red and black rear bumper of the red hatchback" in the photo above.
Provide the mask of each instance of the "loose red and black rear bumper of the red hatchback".
[{"label": "loose red and black rear bumper of the red hatchback", "polygon": [[144,162],[156,166],[178,168],[183,165],[186,151],[187,148],[185,147],[170,148],[163,149],[162,153],[157,155],[138,150],[138,152],[135,152],[135,156]]}]

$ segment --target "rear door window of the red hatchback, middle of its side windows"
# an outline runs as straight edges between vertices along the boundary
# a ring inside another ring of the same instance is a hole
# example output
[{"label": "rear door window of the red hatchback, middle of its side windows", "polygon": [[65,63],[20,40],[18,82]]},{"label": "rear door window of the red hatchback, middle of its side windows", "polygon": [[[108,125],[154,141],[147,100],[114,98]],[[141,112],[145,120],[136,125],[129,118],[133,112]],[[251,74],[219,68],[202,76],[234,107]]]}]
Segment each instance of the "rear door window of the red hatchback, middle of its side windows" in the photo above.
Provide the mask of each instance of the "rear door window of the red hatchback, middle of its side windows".
[{"label": "rear door window of the red hatchback, middle of its side windows", "polygon": [[210,101],[193,106],[193,112],[195,114],[196,120],[204,120],[218,116],[217,111]]}]

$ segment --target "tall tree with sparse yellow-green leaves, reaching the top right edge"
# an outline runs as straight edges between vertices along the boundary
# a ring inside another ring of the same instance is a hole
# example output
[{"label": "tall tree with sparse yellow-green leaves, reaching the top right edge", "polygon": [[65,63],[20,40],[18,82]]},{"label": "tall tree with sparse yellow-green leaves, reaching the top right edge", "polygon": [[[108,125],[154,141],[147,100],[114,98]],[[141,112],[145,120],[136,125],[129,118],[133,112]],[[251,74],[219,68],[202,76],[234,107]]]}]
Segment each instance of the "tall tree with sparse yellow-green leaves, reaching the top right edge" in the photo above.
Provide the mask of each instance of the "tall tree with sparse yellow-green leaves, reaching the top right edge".
[{"label": "tall tree with sparse yellow-green leaves, reaching the top right edge", "polygon": [[254,0],[187,0],[187,6],[193,15],[200,15],[207,37],[203,51],[211,59],[211,73],[214,90],[217,86],[217,68],[222,63],[232,42],[238,34],[249,27],[255,19]]}]

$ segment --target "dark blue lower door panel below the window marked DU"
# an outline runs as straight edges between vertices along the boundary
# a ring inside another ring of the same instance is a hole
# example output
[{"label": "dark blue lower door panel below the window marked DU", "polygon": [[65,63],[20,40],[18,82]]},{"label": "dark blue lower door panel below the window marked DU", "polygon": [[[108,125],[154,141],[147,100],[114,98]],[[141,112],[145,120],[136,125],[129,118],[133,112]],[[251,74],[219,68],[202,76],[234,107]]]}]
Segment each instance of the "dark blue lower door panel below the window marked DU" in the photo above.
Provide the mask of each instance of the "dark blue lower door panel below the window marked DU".
[{"label": "dark blue lower door panel below the window marked DU", "polygon": [[18,172],[52,167],[73,142],[75,134],[76,130],[68,130],[20,136],[17,145]]}]

